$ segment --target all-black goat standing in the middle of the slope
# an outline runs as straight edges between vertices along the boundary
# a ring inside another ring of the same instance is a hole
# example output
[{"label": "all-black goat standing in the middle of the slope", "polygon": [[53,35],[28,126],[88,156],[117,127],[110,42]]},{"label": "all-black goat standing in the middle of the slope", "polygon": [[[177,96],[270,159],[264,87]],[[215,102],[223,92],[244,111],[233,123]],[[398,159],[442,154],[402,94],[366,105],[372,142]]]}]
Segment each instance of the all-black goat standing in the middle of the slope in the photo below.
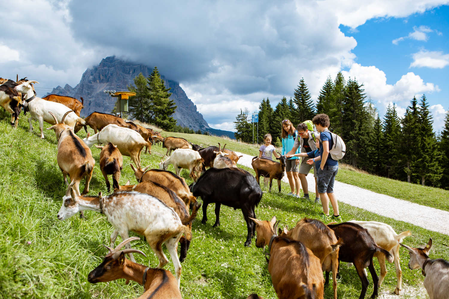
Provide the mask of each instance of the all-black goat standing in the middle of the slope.
[{"label": "all-black goat standing in the middle of the slope", "polygon": [[210,168],[190,185],[190,191],[194,196],[202,198],[202,224],[207,221],[207,205],[215,203],[215,224],[220,225],[220,206],[242,209],[243,218],[247,222],[248,234],[245,246],[251,244],[254,235],[255,206],[262,198],[262,190],[251,173],[240,168]]}]

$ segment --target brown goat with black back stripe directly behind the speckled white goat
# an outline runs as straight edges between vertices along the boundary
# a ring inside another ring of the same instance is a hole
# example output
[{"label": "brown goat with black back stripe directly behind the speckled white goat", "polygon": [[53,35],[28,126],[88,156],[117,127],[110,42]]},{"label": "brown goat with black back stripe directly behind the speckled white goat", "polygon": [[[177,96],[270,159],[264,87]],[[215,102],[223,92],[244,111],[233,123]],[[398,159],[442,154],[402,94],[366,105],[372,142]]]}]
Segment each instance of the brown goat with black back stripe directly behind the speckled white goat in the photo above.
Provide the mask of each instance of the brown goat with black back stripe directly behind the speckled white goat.
[{"label": "brown goat with black back stripe directly behind the speckled white goat", "polygon": [[[176,195],[176,193],[171,189],[157,182],[145,181],[137,185],[119,186],[118,188],[114,189],[114,192],[118,191],[136,191],[156,197],[165,205],[167,205],[167,207],[172,208],[179,215],[182,224],[189,227],[190,231],[192,230],[192,221],[196,217],[198,209],[201,207],[201,203],[195,204],[192,209],[192,215],[189,215],[189,209],[186,207],[184,201],[180,199],[180,197]],[[179,240],[181,244],[181,255],[179,260],[181,263],[187,256],[187,250],[189,250],[190,241],[190,239],[187,240],[184,236],[182,236]]]}]

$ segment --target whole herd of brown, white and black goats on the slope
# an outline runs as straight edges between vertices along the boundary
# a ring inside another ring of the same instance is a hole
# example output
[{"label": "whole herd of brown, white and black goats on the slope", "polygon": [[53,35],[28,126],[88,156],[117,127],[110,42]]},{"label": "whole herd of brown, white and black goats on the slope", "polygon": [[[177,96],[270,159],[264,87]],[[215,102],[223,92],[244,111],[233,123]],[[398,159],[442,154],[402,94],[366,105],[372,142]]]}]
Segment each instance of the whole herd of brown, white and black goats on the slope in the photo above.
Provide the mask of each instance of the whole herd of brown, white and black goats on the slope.
[{"label": "whole herd of brown, white and black goats on the slope", "polygon": [[[263,192],[260,189],[260,175],[270,178],[270,190],[273,178],[278,181],[281,191],[281,178],[285,171],[285,156],[279,162],[262,158],[253,158],[252,165],[256,177],[236,166],[237,153],[219,146],[201,148],[187,140],[176,137],[163,138],[151,129],[123,121],[111,114],[94,112],[85,119],[79,116],[83,100],[48,95],[44,99],[36,96],[33,83],[26,78],[6,80],[0,78],[0,105],[12,114],[11,124],[17,127],[18,115],[22,108],[29,112],[31,120],[37,120],[40,137],[44,138],[43,123],[52,126],[57,138],[57,163],[62,170],[64,181],[68,185],[62,199],[62,207],[57,214],[59,220],[65,220],[77,212],[80,217],[84,210],[93,210],[105,214],[114,232],[110,237],[109,253],[103,262],[88,274],[92,283],[107,282],[119,278],[141,283],[145,293],[139,298],[181,298],[180,276],[181,262],[185,260],[192,239],[192,222],[202,205],[202,224],[207,221],[207,205],[215,203],[216,221],[220,225],[220,205],[241,209],[247,223],[245,246],[251,244],[256,234],[256,247],[268,246],[265,253],[273,287],[279,299],[319,299],[323,298],[324,285],[329,283],[332,271],[334,299],[337,298],[337,277],[339,262],[354,264],[360,277],[362,290],[359,298],[364,298],[369,284],[365,268],[368,267],[374,283],[371,298],[378,295],[387,269],[385,260],[396,266],[397,286],[401,290],[401,268],[399,264],[400,245],[409,251],[410,269],[422,269],[425,276],[424,286],[431,299],[449,298],[449,263],[443,259],[429,259],[432,240],[424,248],[413,248],[401,244],[410,231],[396,234],[390,225],[375,221],[350,221],[330,223],[328,225],[316,219],[304,218],[296,226],[277,229],[278,221],[256,218],[255,207],[259,204]],[[94,133],[87,133],[80,139],[76,133],[90,126]],[[166,160],[162,160],[159,169],[150,166],[141,168],[140,155],[143,147],[151,153],[151,146],[162,142],[167,148]],[[97,145],[98,143],[104,146]],[[95,160],[90,147],[101,148],[100,169],[110,193],[108,175],[112,175],[114,193],[102,196],[87,195]],[[226,146],[226,145],[225,145]],[[173,151],[174,150],[174,151]],[[173,152],[172,152],[173,151]],[[123,168],[123,155],[129,156],[136,165],[131,164],[137,184],[119,185],[120,170]],[[167,171],[172,164],[176,174]],[[206,170],[206,168],[208,169]],[[189,169],[190,186],[180,177],[180,169]],[[69,175],[70,182],[67,181]],[[84,191],[79,192],[79,182],[85,178]],[[197,198],[202,198],[202,204]],[[191,213],[190,213],[191,210]],[[133,231],[145,236],[158,257],[156,268],[137,264],[132,253],[142,251],[132,249],[130,242],[139,239],[129,238]],[[120,235],[123,242],[114,247],[115,239]],[[177,246],[180,243],[180,257]],[[175,276],[162,267],[167,264],[167,256],[162,250],[165,244],[169,252]],[[123,249],[126,247],[126,249]],[[128,254],[129,260],[125,257]],[[373,257],[380,264],[380,277],[375,272]],[[326,272],[326,278],[323,277]],[[251,294],[248,298],[260,298]]]}]

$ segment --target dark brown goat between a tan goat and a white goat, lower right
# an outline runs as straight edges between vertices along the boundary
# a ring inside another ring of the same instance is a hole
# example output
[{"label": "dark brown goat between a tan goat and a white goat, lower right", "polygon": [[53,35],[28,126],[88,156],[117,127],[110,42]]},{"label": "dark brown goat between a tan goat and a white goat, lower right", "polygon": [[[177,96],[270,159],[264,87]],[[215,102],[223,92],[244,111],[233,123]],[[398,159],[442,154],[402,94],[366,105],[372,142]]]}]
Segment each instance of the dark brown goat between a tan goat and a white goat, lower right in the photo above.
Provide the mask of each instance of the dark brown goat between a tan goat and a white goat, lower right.
[{"label": "dark brown goat between a tan goat and a white goat, lower right", "polygon": [[[382,252],[387,257],[389,263],[393,262],[393,256],[385,249],[379,247],[376,242],[374,242],[373,237],[371,237],[368,233],[368,230],[358,224],[343,222],[327,226],[334,231],[335,237],[343,239],[343,245],[340,246],[339,250],[339,261],[342,260],[343,262],[352,263],[356,267],[357,274],[359,275],[362,283],[362,290],[359,299],[365,298],[366,289],[370,284],[365,272],[363,271],[366,267],[370,269],[371,277],[373,277],[374,283],[374,292],[373,295],[371,295],[371,298],[377,297],[379,277],[374,269],[374,253],[378,251]],[[328,270],[326,270],[326,282],[329,282]]]}]

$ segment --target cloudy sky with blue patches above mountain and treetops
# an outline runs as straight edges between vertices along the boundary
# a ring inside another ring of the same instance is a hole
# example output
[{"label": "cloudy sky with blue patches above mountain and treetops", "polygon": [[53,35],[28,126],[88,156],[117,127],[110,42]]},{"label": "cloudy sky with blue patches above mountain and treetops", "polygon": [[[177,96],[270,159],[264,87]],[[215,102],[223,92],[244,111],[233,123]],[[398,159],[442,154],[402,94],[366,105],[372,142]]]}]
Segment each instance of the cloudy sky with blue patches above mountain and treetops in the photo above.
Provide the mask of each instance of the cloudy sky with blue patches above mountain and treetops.
[{"label": "cloudy sky with blue patches above mountain and treetops", "polygon": [[[37,80],[44,95],[75,86],[115,55],[158,66],[211,127],[234,130],[240,109],[252,112],[267,97],[275,106],[303,77],[316,100],[327,76],[341,70],[365,85],[382,117],[388,104],[402,115],[414,95],[426,94],[437,131],[449,109],[448,4],[16,0],[0,11],[0,76]],[[123,19],[130,7],[138,9]]]}]

